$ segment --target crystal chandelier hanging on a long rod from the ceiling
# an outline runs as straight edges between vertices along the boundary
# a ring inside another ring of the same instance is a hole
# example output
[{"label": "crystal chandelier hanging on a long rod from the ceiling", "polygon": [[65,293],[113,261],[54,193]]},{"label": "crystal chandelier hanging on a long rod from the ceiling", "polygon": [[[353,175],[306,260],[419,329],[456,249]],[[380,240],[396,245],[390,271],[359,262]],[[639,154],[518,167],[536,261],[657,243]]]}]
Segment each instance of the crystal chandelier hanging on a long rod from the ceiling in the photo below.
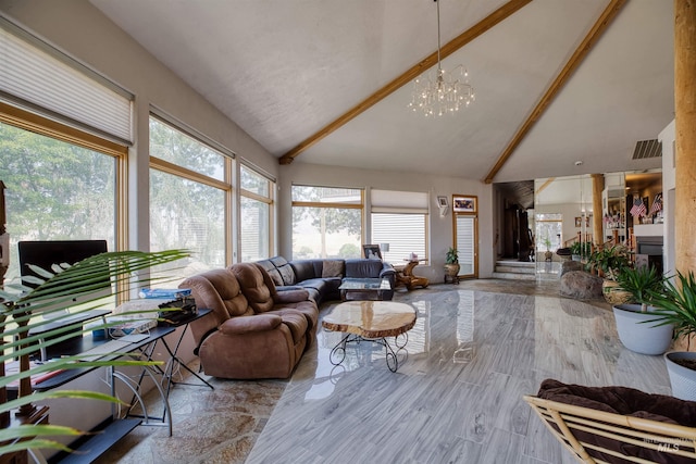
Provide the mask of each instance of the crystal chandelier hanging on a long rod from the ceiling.
[{"label": "crystal chandelier hanging on a long rod from the ceiling", "polygon": [[437,4],[437,70],[423,73],[413,80],[413,96],[409,108],[426,116],[455,114],[475,100],[474,89],[469,84],[469,74],[460,64],[450,73],[443,70],[439,59],[439,2]]}]

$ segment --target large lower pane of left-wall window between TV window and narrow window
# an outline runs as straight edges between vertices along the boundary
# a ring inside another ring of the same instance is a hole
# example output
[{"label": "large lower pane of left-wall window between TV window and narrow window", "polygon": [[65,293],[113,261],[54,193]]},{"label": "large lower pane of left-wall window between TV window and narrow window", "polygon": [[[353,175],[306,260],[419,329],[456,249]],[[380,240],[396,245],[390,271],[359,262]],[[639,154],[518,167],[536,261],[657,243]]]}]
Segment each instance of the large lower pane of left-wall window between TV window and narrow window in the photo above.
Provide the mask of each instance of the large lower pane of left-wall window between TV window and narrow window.
[{"label": "large lower pane of left-wall window between TV window and narrow window", "polygon": [[150,249],[192,252],[192,275],[225,266],[225,192],[200,183],[150,170]]}]

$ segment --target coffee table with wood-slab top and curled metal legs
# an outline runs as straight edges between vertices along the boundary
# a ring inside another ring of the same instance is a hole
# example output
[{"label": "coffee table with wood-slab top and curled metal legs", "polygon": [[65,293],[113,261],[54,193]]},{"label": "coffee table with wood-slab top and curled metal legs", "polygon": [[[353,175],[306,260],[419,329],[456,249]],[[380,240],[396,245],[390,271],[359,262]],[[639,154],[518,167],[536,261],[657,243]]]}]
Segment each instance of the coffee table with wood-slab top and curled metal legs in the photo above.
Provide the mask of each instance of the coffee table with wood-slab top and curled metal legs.
[{"label": "coffee table with wood-slab top and curled metal legs", "polygon": [[[332,331],[344,331],[346,336],[331,350],[330,361],[338,365],[346,359],[346,344],[362,340],[384,347],[387,367],[399,368],[399,360],[387,338],[394,337],[398,351],[406,352],[408,331],[415,325],[415,310],[394,301],[348,301],[338,304],[322,321],[322,326]],[[408,355],[408,352],[406,353]]]}]

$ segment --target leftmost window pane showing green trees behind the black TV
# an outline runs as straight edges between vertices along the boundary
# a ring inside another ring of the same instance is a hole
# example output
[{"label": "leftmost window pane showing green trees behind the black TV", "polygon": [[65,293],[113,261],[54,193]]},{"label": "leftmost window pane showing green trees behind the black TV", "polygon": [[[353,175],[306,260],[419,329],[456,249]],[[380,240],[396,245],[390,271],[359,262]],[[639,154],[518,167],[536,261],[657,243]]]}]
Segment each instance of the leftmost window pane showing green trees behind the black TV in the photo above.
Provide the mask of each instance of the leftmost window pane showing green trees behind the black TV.
[{"label": "leftmost window pane showing green trees behind the black TV", "polygon": [[104,239],[115,247],[116,159],[0,123],[10,269],[20,240]]}]

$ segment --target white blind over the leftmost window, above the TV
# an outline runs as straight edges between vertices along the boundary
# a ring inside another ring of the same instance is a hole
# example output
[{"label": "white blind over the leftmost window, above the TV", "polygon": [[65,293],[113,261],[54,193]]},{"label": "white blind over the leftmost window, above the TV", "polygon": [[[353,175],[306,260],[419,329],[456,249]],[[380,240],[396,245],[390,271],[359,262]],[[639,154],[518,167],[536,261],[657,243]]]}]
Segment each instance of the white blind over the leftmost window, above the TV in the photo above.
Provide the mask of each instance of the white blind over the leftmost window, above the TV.
[{"label": "white blind over the leftmost window, above the TV", "polygon": [[0,96],[9,96],[10,103],[28,103],[29,110],[37,111],[38,106],[38,112],[46,117],[97,135],[109,135],[115,141],[133,142],[132,96],[124,96],[88,76],[79,63],[70,66],[9,30],[14,28],[7,21],[0,21]]}]

